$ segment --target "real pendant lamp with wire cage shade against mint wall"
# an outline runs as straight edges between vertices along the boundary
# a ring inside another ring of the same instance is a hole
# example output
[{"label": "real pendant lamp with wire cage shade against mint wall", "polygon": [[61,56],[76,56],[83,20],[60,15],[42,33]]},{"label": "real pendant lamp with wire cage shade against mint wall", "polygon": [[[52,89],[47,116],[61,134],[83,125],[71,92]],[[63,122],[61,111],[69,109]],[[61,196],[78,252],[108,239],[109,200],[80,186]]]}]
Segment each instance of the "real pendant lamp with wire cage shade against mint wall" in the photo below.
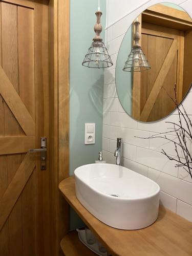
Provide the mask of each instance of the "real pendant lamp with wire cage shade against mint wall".
[{"label": "real pendant lamp with wire cage shade against mint wall", "polygon": [[113,62],[102,38],[100,37],[102,31],[102,26],[100,24],[102,12],[100,11],[100,7],[98,7],[98,11],[95,14],[97,16],[97,23],[94,26],[95,37],[93,38],[92,45],[82,62],[82,66],[97,69],[108,68],[113,65]]}]

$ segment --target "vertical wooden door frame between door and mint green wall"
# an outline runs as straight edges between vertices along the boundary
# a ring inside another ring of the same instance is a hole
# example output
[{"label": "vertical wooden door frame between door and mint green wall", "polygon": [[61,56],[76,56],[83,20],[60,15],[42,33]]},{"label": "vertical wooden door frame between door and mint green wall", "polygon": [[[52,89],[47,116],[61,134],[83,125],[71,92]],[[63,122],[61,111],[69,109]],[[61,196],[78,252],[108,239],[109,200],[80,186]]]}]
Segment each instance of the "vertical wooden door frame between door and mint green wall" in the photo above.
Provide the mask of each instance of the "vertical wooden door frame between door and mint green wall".
[{"label": "vertical wooden door frame between door and mint green wall", "polygon": [[69,231],[69,205],[58,184],[69,177],[70,0],[49,1],[51,250]]}]

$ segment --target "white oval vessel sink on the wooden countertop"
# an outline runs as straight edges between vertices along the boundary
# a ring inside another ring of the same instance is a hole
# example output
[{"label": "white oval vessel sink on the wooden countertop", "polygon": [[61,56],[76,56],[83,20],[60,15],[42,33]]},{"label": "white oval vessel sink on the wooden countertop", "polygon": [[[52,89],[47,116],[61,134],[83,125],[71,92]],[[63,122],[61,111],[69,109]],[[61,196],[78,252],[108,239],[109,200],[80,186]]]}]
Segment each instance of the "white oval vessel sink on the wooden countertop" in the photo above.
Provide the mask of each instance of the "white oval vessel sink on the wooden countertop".
[{"label": "white oval vessel sink on the wooden countertop", "polygon": [[79,202],[111,227],[140,229],[158,217],[159,185],[123,166],[80,166],[75,170],[75,189]]}]

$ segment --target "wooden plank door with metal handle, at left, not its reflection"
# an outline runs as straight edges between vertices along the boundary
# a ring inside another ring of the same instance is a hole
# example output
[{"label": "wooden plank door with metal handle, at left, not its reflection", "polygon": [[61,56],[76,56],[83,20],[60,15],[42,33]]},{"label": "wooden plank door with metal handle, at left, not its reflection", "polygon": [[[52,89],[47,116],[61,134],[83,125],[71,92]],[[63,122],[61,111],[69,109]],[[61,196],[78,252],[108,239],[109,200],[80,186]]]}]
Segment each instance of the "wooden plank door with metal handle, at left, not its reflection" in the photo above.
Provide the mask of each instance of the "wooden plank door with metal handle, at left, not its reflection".
[{"label": "wooden plank door with metal handle, at left, not its reflection", "polygon": [[5,0],[0,15],[0,255],[47,256],[49,162],[28,150],[49,134],[48,6]]}]

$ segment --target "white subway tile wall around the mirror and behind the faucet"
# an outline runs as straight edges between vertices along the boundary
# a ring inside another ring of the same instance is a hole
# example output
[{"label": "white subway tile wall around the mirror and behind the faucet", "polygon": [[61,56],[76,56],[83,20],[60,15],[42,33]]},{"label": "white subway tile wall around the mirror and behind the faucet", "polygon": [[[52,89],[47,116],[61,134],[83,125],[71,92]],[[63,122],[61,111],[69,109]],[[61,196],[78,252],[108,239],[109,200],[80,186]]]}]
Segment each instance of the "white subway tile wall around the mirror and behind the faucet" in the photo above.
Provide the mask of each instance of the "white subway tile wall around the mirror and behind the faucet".
[{"label": "white subway tile wall around the mirror and behind the faucet", "polygon": [[[169,0],[167,2],[180,5],[192,15],[192,0]],[[177,111],[161,121],[138,122],[124,113],[115,86],[116,59],[124,34],[142,10],[157,3],[160,1],[122,0],[118,4],[116,0],[107,1],[105,42],[114,65],[105,70],[104,74],[103,157],[108,163],[116,163],[114,157],[116,139],[122,137],[122,165],[156,181],[161,187],[160,203],[192,221],[192,179],[183,168],[175,167],[175,163],[161,153],[163,149],[169,155],[176,157],[172,143],[168,143],[163,138],[141,139],[172,131],[173,125],[165,122],[178,122]],[[183,105],[192,120],[192,91],[183,101]],[[169,138],[177,140],[175,136]]]}]

